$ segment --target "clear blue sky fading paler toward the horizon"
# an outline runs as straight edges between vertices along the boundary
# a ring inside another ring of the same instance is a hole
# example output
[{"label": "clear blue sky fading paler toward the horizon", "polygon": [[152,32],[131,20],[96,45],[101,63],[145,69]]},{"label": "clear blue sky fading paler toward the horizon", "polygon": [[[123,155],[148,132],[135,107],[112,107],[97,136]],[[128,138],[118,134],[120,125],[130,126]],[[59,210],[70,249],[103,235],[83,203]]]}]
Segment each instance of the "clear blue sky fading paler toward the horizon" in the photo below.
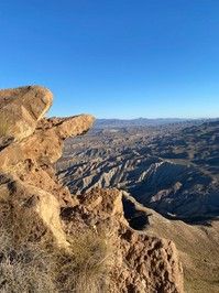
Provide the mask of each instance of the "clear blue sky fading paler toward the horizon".
[{"label": "clear blue sky fading paler toward the horizon", "polygon": [[0,88],[51,116],[219,117],[218,0],[1,0]]}]

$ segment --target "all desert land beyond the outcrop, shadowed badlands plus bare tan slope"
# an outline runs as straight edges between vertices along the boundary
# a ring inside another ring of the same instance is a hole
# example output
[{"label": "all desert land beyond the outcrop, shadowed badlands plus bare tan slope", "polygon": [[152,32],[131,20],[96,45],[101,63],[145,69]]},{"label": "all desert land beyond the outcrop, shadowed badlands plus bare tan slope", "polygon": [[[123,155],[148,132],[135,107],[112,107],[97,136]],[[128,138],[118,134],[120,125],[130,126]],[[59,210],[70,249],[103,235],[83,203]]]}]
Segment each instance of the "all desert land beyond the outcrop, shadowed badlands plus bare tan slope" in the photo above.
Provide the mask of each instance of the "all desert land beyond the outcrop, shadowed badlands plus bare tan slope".
[{"label": "all desert land beyond the outcrop, shadowed badlands plus bare tan slope", "polygon": [[100,120],[68,139],[58,177],[73,194],[124,191],[132,228],[176,243],[186,292],[218,292],[219,121],[141,122]]}]

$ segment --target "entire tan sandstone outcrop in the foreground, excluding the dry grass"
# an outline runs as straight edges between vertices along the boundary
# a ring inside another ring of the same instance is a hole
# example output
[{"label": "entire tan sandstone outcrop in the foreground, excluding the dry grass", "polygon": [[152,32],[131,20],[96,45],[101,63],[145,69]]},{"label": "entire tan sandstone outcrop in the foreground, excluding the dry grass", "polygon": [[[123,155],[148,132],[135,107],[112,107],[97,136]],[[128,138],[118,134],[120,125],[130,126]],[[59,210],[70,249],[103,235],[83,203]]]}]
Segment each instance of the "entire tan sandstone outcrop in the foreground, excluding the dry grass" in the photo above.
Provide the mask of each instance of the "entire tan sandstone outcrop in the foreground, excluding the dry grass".
[{"label": "entire tan sandstone outcrop in the foreground, excluding the dry grass", "polygon": [[[43,242],[65,253],[73,249],[69,239],[110,231],[107,292],[183,292],[175,245],[130,228],[121,192],[96,189],[76,197],[58,183],[53,164],[63,141],[86,132],[94,117],[45,119],[51,105],[51,91],[39,86],[0,91],[0,228],[14,247]],[[65,280],[58,279],[59,287]]]}]

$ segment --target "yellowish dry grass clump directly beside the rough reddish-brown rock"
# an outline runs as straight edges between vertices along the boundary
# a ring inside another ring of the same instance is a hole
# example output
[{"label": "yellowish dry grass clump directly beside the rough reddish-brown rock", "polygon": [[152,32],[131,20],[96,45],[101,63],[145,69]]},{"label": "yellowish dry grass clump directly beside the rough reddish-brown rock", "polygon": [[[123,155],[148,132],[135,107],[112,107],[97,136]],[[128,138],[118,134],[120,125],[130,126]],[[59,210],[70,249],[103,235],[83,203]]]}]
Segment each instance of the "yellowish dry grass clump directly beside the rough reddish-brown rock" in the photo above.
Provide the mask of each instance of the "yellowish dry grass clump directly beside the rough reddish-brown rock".
[{"label": "yellowish dry grass clump directly beside the rough reddish-brown rock", "polygon": [[107,292],[113,248],[110,234],[87,230],[70,239],[70,253],[59,254],[63,292]]}]

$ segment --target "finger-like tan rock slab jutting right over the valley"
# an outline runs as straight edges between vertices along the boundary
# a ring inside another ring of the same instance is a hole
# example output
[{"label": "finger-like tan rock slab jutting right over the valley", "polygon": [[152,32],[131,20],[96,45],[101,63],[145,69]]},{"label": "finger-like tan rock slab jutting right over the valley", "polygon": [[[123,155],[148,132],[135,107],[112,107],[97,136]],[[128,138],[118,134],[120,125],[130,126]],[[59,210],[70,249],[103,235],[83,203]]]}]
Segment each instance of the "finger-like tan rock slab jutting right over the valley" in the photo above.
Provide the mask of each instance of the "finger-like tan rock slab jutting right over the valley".
[{"label": "finger-like tan rock slab jutting right over the valley", "polygon": [[34,134],[4,148],[0,153],[0,170],[4,172],[12,169],[20,170],[20,164],[29,159],[55,163],[62,155],[63,140],[88,131],[92,126],[94,117],[81,115],[61,119],[58,123],[51,123],[51,121],[53,119],[44,120],[45,126],[41,122]]}]

